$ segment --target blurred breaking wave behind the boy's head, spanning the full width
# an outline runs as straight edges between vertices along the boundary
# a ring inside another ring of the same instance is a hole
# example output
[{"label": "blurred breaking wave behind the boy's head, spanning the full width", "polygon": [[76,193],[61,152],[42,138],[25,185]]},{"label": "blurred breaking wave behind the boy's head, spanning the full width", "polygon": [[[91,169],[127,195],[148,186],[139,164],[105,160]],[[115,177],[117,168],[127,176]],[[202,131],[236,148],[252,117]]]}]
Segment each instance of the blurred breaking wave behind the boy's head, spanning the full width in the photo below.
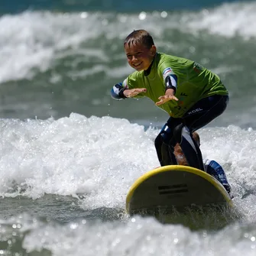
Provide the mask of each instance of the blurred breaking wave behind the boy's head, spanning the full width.
[{"label": "blurred breaking wave behind the boy's head, spanning the full width", "polygon": [[[32,79],[38,72],[53,70],[57,65],[57,70],[67,68],[65,75],[72,79],[100,72],[110,77],[120,73],[125,76],[130,70],[121,61],[122,42],[130,31],[144,28],[160,46],[166,42],[170,45],[168,34],[177,34],[177,29],[186,34],[206,31],[225,37],[238,34],[248,39],[256,36],[255,11],[255,2],[238,2],[203,11],[141,11],[118,15],[25,11],[4,15],[0,18],[0,83]],[[170,47],[175,50],[175,46]],[[109,63],[118,64],[109,68]],[[51,81],[54,83],[54,79],[62,76],[60,73]]]}]

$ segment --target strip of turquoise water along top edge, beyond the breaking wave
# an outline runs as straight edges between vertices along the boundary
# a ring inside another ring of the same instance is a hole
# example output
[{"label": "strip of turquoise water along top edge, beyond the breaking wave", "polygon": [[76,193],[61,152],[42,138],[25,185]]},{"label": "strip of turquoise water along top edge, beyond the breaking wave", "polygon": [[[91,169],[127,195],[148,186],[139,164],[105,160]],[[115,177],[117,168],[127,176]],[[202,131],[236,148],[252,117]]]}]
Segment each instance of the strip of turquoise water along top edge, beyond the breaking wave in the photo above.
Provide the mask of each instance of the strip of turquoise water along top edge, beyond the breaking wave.
[{"label": "strip of turquoise water along top edge, beyond the breaking wave", "polygon": [[[160,0],[160,1],[118,1],[118,0],[13,0],[11,2],[3,2],[1,6],[1,13],[17,13],[20,11],[31,10],[50,10],[50,11],[172,11],[179,9],[200,9],[206,7],[212,7],[222,2],[239,2],[238,0],[210,0],[210,1],[190,1],[182,0],[179,2]],[[243,2],[243,1],[240,1]]]}]

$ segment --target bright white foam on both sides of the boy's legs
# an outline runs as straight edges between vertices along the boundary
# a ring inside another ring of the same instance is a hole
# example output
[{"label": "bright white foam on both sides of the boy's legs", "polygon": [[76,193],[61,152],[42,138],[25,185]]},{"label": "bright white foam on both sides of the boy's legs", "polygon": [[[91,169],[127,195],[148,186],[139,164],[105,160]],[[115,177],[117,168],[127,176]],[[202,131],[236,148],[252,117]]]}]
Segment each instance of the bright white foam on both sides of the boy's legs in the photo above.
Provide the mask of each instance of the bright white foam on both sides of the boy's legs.
[{"label": "bright white foam on both sides of the boy's legs", "polygon": [[[31,198],[44,193],[83,195],[82,207],[125,208],[125,196],[142,173],[159,166],[154,138],[159,130],[111,117],[46,121],[1,120],[0,193]],[[203,157],[225,168],[238,203],[256,192],[256,131],[204,128]]]}]

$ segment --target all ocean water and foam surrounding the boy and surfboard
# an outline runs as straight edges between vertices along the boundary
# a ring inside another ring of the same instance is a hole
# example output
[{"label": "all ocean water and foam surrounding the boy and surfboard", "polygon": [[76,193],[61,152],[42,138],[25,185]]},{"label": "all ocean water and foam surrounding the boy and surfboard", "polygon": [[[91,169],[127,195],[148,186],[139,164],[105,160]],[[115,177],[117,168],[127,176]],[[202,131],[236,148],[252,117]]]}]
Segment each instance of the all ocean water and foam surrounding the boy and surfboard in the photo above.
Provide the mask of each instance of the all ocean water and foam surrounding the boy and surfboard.
[{"label": "all ocean water and foam surrounding the boy and surfboard", "polygon": [[[0,255],[255,255],[256,2],[0,3]],[[163,224],[125,214],[131,184],[159,165],[167,114],[114,101],[133,72],[124,38],[218,73],[226,111],[199,130],[225,169],[234,211]]]}]

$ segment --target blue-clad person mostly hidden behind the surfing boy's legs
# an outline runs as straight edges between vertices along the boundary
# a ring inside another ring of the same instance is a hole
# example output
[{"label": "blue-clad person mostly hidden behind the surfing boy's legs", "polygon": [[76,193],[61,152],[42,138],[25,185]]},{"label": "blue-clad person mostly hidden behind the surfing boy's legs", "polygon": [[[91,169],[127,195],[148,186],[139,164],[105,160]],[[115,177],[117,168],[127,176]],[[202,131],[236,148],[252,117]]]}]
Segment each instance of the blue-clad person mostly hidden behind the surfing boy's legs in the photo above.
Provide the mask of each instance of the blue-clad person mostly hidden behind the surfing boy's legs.
[{"label": "blue-clad person mostly hidden behind the surfing boy's legs", "polygon": [[[196,131],[194,131],[192,135],[193,135],[194,141],[196,142],[198,147],[200,147],[199,134]],[[184,156],[183,151],[180,148],[179,144],[176,144],[174,147],[174,155],[177,159],[177,164],[189,165],[186,161],[186,157]],[[225,190],[230,194],[231,187],[228,184],[228,180],[227,180],[227,177],[225,176],[225,172],[222,166],[218,164],[215,160],[205,159],[203,160],[203,167],[206,173],[212,175],[213,177],[215,177],[216,180],[222,183],[222,186],[224,186]]]}]

